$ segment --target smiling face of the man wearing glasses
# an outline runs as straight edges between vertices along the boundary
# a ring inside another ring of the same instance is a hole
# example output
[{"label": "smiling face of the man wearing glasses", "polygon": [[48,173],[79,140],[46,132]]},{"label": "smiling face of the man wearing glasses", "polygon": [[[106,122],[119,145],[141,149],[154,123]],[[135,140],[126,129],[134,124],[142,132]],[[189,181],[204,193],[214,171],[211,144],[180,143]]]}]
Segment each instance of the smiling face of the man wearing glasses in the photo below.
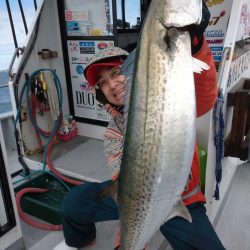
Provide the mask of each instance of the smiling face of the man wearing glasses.
[{"label": "smiling face of the man wearing glasses", "polygon": [[102,90],[107,100],[116,105],[124,105],[125,76],[120,74],[120,67],[104,67],[98,73],[96,85]]}]

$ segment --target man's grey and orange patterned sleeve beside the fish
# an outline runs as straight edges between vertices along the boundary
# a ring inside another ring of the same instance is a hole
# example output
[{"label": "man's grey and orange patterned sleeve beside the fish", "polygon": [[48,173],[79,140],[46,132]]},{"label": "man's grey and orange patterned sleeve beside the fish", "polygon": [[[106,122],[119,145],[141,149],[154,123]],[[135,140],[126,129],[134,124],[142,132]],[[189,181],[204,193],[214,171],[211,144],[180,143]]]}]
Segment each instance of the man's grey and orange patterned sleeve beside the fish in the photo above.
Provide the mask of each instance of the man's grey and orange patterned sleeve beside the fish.
[{"label": "man's grey and orange patterned sleeve beside the fish", "polygon": [[121,117],[111,118],[104,133],[104,152],[113,180],[118,177],[120,172],[123,149],[122,124],[123,121]]}]

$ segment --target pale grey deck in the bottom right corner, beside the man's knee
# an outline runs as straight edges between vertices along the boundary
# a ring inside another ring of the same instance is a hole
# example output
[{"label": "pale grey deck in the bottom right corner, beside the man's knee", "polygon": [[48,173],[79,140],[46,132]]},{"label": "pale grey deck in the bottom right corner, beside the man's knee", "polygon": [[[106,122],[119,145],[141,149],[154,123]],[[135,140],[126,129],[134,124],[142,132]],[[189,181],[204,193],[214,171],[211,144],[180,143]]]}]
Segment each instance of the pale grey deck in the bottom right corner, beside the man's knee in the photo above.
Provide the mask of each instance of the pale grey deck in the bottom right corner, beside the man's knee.
[{"label": "pale grey deck in the bottom right corner, beside the man's knee", "polygon": [[250,163],[238,166],[216,226],[227,250],[250,249]]}]

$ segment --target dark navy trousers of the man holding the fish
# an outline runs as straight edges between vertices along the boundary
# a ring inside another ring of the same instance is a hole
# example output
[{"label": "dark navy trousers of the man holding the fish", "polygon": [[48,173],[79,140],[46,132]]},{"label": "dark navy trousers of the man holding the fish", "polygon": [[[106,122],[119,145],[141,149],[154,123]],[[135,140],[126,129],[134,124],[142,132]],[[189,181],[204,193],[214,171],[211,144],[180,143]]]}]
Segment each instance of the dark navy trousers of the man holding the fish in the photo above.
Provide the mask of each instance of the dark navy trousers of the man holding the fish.
[{"label": "dark navy trousers of the man holding the fish", "polygon": [[[111,181],[86,183],[72,188],[61,205],[61,218],[65,242],[81,248],[96,238],[95,223],[118,220],[118,207],[110,198],[100,198],[100,191]],[[160,231],[176,250],[225,249],[206,215],[202,203],[187,206],[192,223],[175,217],[160,227]]]}]

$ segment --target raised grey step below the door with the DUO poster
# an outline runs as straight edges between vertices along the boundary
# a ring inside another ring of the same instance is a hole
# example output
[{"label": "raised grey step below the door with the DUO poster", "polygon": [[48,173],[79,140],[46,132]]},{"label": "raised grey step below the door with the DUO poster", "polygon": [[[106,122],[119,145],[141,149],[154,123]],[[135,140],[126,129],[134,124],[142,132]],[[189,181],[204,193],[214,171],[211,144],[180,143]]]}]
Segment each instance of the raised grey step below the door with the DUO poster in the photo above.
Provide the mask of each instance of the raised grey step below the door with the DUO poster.
[{"label": "raised grey step below the door with the DUO poster", "polygon": [[[29,156],[41,162],[42,154]],[[52,147],[51,159],[55,168],[71,176],[89,181],[111,179],[102,140],[77,136],[69,142],[59,142]]]}]

